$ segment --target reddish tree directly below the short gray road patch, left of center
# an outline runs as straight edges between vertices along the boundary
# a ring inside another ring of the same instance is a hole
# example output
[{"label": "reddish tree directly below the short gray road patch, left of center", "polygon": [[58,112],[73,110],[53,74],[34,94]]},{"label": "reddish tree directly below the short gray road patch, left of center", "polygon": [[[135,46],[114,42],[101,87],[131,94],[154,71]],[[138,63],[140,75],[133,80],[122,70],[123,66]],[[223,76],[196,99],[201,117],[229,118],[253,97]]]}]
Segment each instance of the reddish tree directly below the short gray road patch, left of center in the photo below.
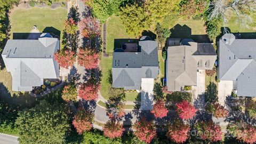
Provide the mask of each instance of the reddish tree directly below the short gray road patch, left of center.
[{"label": "reddish tree directly below the short gray road patch, left of center", "polygon": [[115,121],[108,121],[103,126],[105,137],[109,137],[110,139],[122,137],[124,130],[123,125]]}]

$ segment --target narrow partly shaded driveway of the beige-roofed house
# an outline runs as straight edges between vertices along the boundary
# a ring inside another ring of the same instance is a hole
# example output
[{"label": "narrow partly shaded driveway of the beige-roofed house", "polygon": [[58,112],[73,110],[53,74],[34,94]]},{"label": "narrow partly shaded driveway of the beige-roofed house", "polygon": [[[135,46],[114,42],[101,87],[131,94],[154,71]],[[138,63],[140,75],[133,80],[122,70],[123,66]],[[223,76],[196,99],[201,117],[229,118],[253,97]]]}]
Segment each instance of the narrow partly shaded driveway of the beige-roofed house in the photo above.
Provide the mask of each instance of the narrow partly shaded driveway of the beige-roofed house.
[{"label": "narrow partly shaded driveway of the beige-roofed house", "polygon": [[204,106],[204,93],[205,93],[205,70],[199,69],[197,71],[197,84],[192,86],[193,91],[193,103],[198,109],[202,109]]}]

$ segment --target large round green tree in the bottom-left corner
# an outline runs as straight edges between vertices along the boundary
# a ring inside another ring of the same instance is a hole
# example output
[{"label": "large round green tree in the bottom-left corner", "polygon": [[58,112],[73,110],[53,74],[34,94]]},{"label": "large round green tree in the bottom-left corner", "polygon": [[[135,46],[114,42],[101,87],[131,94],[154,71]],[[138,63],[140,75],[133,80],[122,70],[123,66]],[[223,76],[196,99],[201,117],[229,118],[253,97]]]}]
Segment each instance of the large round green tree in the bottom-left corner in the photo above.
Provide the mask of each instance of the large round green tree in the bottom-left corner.
[{"label": "large round green tree in the bottom-left corner", "polygon": [[63,143],[68,131],[68,116],[60,104],[45,100],[31,109],[20,111],[17,118],[19,142],[22,143]]}]

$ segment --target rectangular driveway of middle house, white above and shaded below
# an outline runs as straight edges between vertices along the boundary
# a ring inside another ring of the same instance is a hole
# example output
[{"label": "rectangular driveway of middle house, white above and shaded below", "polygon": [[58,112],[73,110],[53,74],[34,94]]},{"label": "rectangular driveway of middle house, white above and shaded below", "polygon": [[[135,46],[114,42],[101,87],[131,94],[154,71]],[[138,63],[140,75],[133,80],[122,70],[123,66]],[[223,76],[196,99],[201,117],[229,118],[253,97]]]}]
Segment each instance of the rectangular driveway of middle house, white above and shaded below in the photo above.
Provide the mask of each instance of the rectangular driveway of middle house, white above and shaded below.
[{"label": "rectangular driveway of middle house, white above and shaded below", "polygon": [[141,110],[153,109],[154,78],[141,79]]}]

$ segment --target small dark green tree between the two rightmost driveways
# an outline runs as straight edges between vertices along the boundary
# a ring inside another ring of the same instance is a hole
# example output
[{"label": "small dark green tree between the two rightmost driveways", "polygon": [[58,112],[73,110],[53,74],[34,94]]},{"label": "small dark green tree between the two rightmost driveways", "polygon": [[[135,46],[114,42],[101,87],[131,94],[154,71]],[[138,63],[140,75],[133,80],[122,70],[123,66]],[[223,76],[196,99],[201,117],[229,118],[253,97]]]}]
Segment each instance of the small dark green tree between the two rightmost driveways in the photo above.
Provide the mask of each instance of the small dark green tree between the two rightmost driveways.
[{"label": "small dark green tree between the two rightmost driveways", "polygon": [[213,82],[207,86],[205,91],[205,102],[217,102],[218,101],[218,90],[217,85]]}]

